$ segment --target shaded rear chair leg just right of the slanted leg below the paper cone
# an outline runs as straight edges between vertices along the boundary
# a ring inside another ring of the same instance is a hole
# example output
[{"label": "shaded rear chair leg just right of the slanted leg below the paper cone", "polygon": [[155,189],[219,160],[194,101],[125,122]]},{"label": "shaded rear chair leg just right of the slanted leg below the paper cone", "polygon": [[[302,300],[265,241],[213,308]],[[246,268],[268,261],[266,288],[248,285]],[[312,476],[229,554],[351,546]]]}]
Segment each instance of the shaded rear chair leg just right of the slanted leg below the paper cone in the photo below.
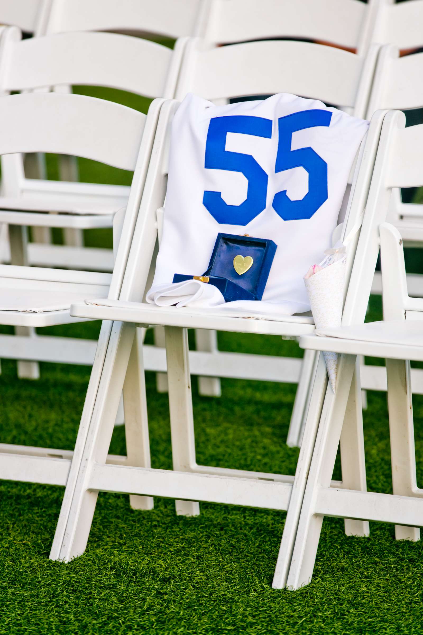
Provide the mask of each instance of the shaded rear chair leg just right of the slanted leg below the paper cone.
[{"label": "shaded rear chair leg just right of the slanted leg below the paper cone", "polygon": [[[345,490],[366,491],[366,463],[363,436],[363,408],[361,407],[360,360],[349,391],[348,404],[341,432],[341,469],[342,488]],[[347,536],[366,537],[370,533],[368,521],[344,520]]]}]

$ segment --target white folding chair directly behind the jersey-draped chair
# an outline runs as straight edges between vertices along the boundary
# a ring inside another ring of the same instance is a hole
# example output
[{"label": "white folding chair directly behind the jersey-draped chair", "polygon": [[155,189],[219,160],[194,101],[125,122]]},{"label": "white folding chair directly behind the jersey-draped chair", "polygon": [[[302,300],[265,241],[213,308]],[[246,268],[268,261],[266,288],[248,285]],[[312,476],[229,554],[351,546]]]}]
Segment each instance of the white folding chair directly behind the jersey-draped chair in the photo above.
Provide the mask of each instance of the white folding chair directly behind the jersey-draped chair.
[{"label": "white folding chair directly behind the jersey-draped chair", "polygon": [[[218,100],[283,91],[337,104],[352,110],[355,116],[364,117],[375,55],[377,46],[370,48],[366,57],[361,57],[305,42],[262,41],[214,48],[202,39],[190,39],[185,48],[176,97],[182,99],[191,91]],[[290,64],[281,65],[279,60],[283,58],[289,59]],[[156,342],[164,345],[160,331],[159,337]],[[202,335],[200,344],[200,350],[212,352],[213,364],[209,370],[212,373],[219,364],[214,331]],[[234,361],[235,355],[232,356]],[[279,358],[275,360],[275,367],[270,368],[268,356],[256,355],[254,365],[251,365],[251,378],[299,384],[287,438],[289,445],[299,445],[315,358],[315,354],[307,352],[301,366],[297,359]],[[225,373],[226,359],[221,357],[220,360]],[[238,368],[238,373],[242,371],[241,377],[245,377],[245,364],[234,363],[233,366],[235,370]],[[219,377],[225,377],[225,374]]]}]

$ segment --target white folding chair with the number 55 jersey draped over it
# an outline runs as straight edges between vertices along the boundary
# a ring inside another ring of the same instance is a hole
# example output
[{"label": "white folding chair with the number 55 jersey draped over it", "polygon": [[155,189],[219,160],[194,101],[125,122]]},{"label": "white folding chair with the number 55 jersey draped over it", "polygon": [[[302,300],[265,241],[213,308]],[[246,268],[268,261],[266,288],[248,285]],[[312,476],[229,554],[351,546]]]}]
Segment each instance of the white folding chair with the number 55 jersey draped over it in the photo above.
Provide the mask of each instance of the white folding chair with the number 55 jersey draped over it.
[{"label": "white folding chair with the number 55 jersey draped over it", "polygon": [[[240,87],[240,90],[245,94],[245,86]],[[112,326],[114,335],[108,344],[100,378],[98,378],[96,366],[93,367],[89,390],[93,386],[92,391],[96,391],[97,398],[88,427],[86,420],[80,427],[50,557],[69,560],[84,551],[98,491],[131,491],[134,494],[177,498],[176,511],[178,514],[185,515],[198,514],[198,503],[192,502],[195,500],[288,509],[284,530],[285,542],[288,546],[285,549],[285,561],[279,565],[280,571],[285,572],[283,575],[286,575],[290,562],[290,550],[296,534],[309,457],[315,440],[317,411],[323,399],[326,380],[324,378],[321,386],[320,399],[316,397],[315,392],[314,401],[312,400],[310,406],[310,410],[315,412],[315,422],[313,424],[310,419],[304,434],[295,479],[281,474],[198,465],[195,458],[186,329],[217,328],[244,333],[298,336],[300,333],[313,331],[313,321],[306,316],[286,316],[284,321],[278,322],[267,319],[248,320],[224,316],[212,310],[200,311],[188,307],[163,309],[142,301],[157,237],[156,225],[160,226],[162,206],[166,196],[167,140],[172,116],[177,106],[176,102],[167,102],[160,111],[152,160],[119,300],[108,298],[108,300],[93,300],[89,304],[72,305],[71,312],[75,316],[95,316],[114,321]],[[356,177],[356,185],[353,184],[353,203],[348,213],[346,231],[356,224],[367,200],[368,184],[383,117],[384,112],[375,116],[370,125],[365,147],[364,145],[362,147],[363,160],[361,157],[358,159],[360,171]],[[156,223],[156,210],[158,210],[158,223]],[[166,214],[166,211],[164,213]],[[111,469],[105,464],[131,343],[136,325],[140,324],[145,326],[160,324],[166,328],[174,471],[120,466],[114,466]],[[342,478],[347,485],[351,479],[351,483],[354,482],[358,488],[362,486],[365,489],[365,474],[361,469],[357,469],[362,445],[361,411],[357,411],[354,417],[349,417],[347,423],[346,430],[352,443],[349,448],[349,465],[347,461],[344,462]],[[353,472],[349,471],[351,465],[354,466]],[[367,534],[368,525],[353,521],[347,530],[349,533]]]}]

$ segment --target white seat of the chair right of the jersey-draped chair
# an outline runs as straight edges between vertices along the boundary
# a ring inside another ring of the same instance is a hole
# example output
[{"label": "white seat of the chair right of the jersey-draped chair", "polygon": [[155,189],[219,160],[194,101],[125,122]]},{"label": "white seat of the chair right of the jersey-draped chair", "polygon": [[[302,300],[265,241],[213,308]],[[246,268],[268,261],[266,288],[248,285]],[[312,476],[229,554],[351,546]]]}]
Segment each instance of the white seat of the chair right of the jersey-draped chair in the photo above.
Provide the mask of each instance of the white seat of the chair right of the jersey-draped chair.
[{"label": "white seat of the chair right of the jersey-draped chair", "polygon": [[423,323],[393,320],[316,331],[299,340],[303,349],[423,361]]}]

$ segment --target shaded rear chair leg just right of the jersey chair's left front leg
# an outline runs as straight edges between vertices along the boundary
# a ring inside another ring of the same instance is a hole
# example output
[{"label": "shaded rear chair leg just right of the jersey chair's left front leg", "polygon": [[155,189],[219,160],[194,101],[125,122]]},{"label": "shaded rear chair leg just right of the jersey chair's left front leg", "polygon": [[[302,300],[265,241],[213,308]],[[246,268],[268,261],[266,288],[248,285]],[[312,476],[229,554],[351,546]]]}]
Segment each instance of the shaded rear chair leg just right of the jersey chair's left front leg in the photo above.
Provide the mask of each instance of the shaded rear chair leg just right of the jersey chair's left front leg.
[{"label": "shaded rear chair leg just right of the jersey chair's left front leg", "polygon": [[[124,382],[126,455],[128,465],[151,467],[143,337],[140,331],[141,329],[137,328]],[[133,509],[153,509],[154,507],[153,498],[150,496],[129,495],[129,504]]]}]

